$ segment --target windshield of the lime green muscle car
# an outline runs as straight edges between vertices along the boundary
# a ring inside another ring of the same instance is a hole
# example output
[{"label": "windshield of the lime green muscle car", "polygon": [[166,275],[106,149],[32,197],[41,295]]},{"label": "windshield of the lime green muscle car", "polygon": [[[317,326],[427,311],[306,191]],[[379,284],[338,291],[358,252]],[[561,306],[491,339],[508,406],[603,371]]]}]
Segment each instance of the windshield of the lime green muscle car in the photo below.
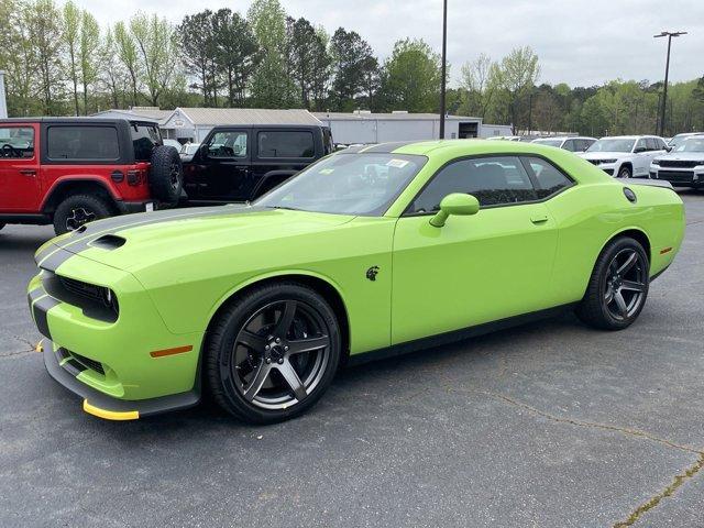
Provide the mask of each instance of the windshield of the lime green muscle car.
[{"label": "windshield of the lime green muscle car", "polygon": [[264,195],[254,205],[337,215],[381,216],[427,157],[340,152]]}]

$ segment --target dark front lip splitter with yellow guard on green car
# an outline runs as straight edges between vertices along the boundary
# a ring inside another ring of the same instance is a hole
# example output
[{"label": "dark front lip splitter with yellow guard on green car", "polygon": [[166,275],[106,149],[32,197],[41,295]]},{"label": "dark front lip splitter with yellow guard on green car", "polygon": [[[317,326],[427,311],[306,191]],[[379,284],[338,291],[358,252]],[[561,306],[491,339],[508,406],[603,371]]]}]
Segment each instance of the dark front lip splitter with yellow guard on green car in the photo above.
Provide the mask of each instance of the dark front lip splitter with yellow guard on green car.
[{"label": "dark front lip splitter with yellow guard on green car", "polygon": [[56,346],[48,339],[42,341],[41,348],[44,366],[50,376],[76,396],[81,397],[86,413],[107,420],[136,420],[194,407],[200,400],[200,395],[196,391],[134,402],[113,398],[78,380],[80,373],[87,367],[72,358],[65,349]]}]

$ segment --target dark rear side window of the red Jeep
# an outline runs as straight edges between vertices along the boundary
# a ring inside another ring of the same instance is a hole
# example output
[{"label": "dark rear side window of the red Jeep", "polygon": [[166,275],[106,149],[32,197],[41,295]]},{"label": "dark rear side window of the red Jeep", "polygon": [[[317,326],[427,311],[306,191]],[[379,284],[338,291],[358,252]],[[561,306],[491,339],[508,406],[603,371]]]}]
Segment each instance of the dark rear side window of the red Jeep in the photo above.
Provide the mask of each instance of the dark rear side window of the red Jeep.
[{"label": "dark rear side window of the red Jeep", "polygon": [[46,134],[50,160],[116,161],[120,158],[114,127],[50,127]]}]

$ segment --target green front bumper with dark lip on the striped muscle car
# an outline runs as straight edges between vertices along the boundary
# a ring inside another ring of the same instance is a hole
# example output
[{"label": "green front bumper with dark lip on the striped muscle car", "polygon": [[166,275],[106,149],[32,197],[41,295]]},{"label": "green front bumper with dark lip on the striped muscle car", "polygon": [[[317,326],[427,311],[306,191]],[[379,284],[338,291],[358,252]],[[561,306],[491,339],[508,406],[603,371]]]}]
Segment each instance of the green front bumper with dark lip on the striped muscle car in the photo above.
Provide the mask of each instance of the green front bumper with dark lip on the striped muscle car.
[{"label": "green front bumper with dark lip on the striped muscle car", "polygon": [[[135,418],[195,405],[204,332],[170,332],[131,274],[54,248],[37,253],[42,272],[28,288],[32,317],[51,343],[48,353],[58,354],[45,355],[52,377],[82,396],[85,410],[105,418],[131,419],[111,413]],[[58,288],[57,280],[65,278],[113,289],[119,315],[101,317]]]}]

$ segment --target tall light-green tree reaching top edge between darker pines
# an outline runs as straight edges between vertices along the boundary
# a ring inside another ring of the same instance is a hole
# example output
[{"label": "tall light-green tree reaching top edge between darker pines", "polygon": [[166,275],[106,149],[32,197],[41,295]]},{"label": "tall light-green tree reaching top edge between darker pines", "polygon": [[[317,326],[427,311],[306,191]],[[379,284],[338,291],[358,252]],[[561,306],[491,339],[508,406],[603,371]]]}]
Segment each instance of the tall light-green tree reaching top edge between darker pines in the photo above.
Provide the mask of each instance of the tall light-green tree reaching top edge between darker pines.
[{"label": "tall light-green tree reaching top edge between darker pines", "polygon": [[278,0],[254,0],[248,20],[262,48],[262,61],[252,76],[255,106],[288,108],[295,85],[286,68],[286,13]]}]

